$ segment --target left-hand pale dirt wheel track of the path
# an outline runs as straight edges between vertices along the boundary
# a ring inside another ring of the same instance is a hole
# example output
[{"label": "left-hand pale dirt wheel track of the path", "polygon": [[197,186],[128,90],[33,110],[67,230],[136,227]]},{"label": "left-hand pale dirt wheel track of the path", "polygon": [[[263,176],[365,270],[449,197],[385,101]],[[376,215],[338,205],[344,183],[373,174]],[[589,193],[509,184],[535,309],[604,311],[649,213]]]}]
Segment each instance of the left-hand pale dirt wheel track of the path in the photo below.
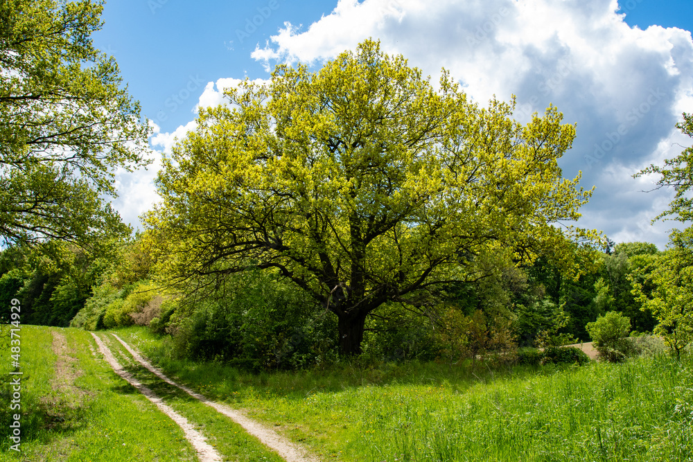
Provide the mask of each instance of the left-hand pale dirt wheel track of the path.
[{"label": "left-hand pale dirt wheel track of the path", "polygon": [[153,391],[145,387],[143,384],[137,381],[132,374],[125,371],[116,360],[116,358],[111,353],[111,350],[106,346],[105,343],[98,337],[98,335],[91,332],[91,335],[96,340],[98,349],[103,354],[104,359],[111,365],[116,374],[120,375],[125,381],[135,387],[140,393],[142,393],[148,400],[153,402],[161,412],[170,417],[185,433],[185,437],[190,443],[195,447],[195,451],[198,452],[198,459],[200,462],[221,462],[222,458],[219,453],[205,440],[204,436],[195,428],[191,423],[188,422],[186,418],[174,411],[170,406],[166,405],[161,398],[159,398]]}]

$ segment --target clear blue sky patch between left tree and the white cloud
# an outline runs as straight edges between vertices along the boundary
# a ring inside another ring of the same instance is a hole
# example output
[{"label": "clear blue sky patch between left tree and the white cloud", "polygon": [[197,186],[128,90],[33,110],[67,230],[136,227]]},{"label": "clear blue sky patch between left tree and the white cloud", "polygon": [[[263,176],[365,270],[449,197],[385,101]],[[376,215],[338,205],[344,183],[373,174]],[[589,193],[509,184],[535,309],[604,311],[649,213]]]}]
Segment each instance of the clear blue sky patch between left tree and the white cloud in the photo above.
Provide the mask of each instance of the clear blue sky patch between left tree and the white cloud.
[{"label": "clear blue sky patch between left tree and the white cloud", "polygon": [[[162,130],[173,132],[191,120],[207,82],[246,75],[266,78],[262,64],[250,53],[284,21],[310,24],[329,14],[336,4],[316,0],[111,0],[102,15],[103,29],[94,41],[116,57],[123,80],[142,104],[144,115],[156,120]],[[252,24],[253,19],[258,26]],[[198,79],[204,83],[198,84]],[[195,85],[198,88],[182,100],[185,90]]]}]

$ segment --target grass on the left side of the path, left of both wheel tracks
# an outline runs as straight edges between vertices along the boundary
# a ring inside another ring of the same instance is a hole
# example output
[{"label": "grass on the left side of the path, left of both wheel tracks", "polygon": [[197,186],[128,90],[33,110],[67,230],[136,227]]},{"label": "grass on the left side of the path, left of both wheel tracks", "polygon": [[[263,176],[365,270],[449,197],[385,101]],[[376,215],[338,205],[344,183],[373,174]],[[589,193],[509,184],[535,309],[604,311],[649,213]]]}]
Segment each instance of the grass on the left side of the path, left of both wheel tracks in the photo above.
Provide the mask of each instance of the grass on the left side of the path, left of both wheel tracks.
[{"label": "grass on the left side of the path, left of both wheel tracks", "polygon": [[[67,353],[76,358],[79,377],[73,388],[55,388],[57,330],[67,338]],[[1,461],[193,461],[195,451],[182,430],[157,407],[118,377],[89,350],[88,332],[35,326],[21,328],[21,452],[9,450],[8,433],[0,433]],[[2,358],[6,383],[9,364]],[[6,396],[0,399],[7,429]]]}]

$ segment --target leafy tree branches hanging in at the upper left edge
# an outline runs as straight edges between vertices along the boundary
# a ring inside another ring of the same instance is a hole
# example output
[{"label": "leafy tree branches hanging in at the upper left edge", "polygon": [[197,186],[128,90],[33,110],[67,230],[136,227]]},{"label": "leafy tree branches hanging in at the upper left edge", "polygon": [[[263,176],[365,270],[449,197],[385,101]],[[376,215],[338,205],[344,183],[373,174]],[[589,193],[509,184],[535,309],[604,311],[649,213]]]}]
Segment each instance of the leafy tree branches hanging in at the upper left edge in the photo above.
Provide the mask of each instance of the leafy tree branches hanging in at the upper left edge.
[{"label": "leafy tree branches hanging in at the upper left edge", "polygon": [[146,163],[139,103],[96,50],[103,2],[0,3],[0,236],[93,240],[127,227],[104,200]]}]

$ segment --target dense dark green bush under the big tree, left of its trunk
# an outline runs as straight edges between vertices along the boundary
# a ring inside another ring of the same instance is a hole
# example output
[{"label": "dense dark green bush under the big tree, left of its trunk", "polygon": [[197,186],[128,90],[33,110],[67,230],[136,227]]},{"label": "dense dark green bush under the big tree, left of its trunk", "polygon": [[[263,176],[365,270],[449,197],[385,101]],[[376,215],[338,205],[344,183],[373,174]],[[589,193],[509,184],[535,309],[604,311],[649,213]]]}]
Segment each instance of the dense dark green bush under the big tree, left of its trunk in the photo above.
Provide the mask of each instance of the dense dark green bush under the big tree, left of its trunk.
[{"label": "dense dark green bush under the big tree, left of its trunk", "polygon": [[[165,328],[178,357],[216,359],[259,371],[333,362],[334,320],[272,274],[229,279],[205,299],[182,299]],[[165,321],[155,322],[161,331]]]}]

